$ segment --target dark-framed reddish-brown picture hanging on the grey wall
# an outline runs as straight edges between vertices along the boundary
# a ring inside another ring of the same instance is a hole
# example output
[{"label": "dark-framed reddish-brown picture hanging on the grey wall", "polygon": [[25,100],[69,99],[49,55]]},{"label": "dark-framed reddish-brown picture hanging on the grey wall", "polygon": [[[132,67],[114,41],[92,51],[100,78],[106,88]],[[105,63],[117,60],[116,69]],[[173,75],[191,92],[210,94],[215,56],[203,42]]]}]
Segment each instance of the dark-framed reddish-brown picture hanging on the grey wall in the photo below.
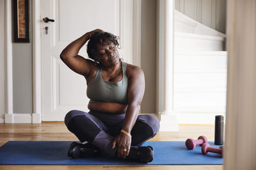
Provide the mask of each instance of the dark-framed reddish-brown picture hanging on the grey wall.
[{"label": "dark-framed reddish-brown picture hanging on the grey wall", "polygon": [[29,43],[29,0],[13,0],[14,42]]}]

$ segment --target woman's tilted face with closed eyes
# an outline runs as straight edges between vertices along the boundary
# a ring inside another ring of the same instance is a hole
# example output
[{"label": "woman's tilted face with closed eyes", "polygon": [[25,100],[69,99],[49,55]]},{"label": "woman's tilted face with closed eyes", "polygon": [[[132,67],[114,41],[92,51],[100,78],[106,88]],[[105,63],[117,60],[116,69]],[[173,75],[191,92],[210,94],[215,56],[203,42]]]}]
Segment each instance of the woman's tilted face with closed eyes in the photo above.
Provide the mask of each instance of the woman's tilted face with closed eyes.
[{"label": "woman's tilted face with closed eyes", "polygon": [[97,55],[99,62],[104,66],[115,66],[119,62],[119,53],[113,42],[104,45],[98,44]]}]

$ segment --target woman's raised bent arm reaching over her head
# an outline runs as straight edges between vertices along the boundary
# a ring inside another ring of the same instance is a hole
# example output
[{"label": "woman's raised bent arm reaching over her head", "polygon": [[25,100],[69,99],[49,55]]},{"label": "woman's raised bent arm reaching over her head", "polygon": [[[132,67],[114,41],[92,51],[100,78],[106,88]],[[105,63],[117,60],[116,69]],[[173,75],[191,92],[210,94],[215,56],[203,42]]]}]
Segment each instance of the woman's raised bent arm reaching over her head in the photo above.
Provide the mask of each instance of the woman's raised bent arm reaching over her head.
[{"label": "woman's raised bent arm reaching over her head", "polygon": [[84,57],[78,55],[82,46],[90,39],[90,36],[96,31],[102,31],[101,29],[95,29],[90,32],[86,32],[83,36],[70,43],[60,54],[61,60],[73,71],[78,74],[82,74],[87,77],[90,74],[93,61],[90,59],[84,59]]}]

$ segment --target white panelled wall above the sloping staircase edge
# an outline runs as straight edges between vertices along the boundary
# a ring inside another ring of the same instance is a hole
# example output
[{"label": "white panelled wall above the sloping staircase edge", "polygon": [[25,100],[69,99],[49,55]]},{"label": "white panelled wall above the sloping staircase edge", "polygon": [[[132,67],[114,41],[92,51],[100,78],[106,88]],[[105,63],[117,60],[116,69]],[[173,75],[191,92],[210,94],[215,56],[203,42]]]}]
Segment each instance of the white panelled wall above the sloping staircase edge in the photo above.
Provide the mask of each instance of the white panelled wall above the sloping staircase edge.
[{"label": "white panelled wall above the sloping staircase edge", "polygon": [[225,33],[226,0],[175,0],[175,9],[212,29]]}]

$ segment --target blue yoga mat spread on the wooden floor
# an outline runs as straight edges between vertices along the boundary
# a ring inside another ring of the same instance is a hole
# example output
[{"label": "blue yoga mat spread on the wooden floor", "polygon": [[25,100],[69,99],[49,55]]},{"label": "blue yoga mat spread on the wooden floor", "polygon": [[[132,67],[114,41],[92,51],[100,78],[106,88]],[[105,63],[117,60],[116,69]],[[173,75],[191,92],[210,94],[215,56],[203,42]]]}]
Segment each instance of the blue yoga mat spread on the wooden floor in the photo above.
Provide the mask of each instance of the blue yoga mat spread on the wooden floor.
[{"label": "blue yoga mat spread on the wooden floor", "polygon": [[[5,165],[127,165],[141,164],[117,157],[72,159],[67,157],[72,141],[8,141],[0,148],[0,164]],[[213,145],[218,148],[219,146]],[[217,153],[203,155],[201,147],[188,150],[184,141],[147,141],[154,148],[154,160],[148,165],[223,164]]]}]

